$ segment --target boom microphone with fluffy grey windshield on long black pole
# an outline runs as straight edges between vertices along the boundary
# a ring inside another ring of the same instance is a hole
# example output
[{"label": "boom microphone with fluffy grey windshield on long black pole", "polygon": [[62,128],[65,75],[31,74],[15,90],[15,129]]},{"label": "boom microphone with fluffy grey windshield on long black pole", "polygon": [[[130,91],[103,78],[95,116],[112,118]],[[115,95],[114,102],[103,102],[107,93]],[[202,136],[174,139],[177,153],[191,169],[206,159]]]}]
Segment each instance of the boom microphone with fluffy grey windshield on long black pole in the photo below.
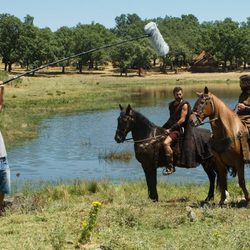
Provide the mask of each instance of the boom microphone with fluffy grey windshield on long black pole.
[{"label": "boom microphone with fluffy grey windshield on long black pole", "polygon": [[52,66],[52,65],[55,65],[57,63],[60,63],[60,62],[63,62],[63,61],[66,61],[66,60],[69,60],[69,59],[72,59],[72,58],[75,58],[75,57],[79,57],[79,56],[82,56],[82,55],[86,55],[86,54],[89,54],[89,53],[92,53],[94,51],[97,51],[97,50],[101,50],[101,49],[106,49],[106,48],[110,48],[110,47],[114,47],[114,46],[119,46],[121,44],[124,44],[124,43],[128,43],[128,42],[131,42],[131,41],[135,41],[135,40],[139,40],[139,39],[142,39],[142,38],[146,38],[148,37],[150,39],[150,42],[153,46],[153,48],[156,50],[157,54],[159,56],[166,56],[169,52],[169,46],[168,44],[164,41],[159,29],[157,28],[157,25],[156,23],[154,22],[150,22],[148,24],[145,25],[144,27],[144,31],[146,33],[146,35],[144,36],[140,36],[140,37],[133,37],[133,38],[130,38],[130,39],[127,39],[127,40],[124,40],[124,41],[121,41],[121,42],[118,42],[118,43],[113,43],[113,44],[109,44],[109,45],[104,45],[104,46],[101,46],[99,48],[95,48],[95,49],[90,49],[88,51],[83,51],[81,53],[78,53],[78,54],[75,54],[75,55],[72,55],[72,56],[68,56],[68,57],[65,57],[65,58],[62,58],[62,59],[59,59],[57,61],[54,61],[54,62],[51,62],[51,63],[48,63],[48,64],[45,64],[45,65],[41,65],[40,67],[38,68],[35,68],[35,69],[32,69],[30,71],[26,71],[20,75],[16,75],[14,76],[13,78],[10,78],[8,80],[5,80],[3,81],[2,84],[6,84],[6,83],[9,83],[13,80],[16,80],[22,76],[25,76],[25,75],[29,75],[33,72],[36,72],[38,70],[41,70],[43,68],[46,68],[46,67],[49,67],[49,66]]}]

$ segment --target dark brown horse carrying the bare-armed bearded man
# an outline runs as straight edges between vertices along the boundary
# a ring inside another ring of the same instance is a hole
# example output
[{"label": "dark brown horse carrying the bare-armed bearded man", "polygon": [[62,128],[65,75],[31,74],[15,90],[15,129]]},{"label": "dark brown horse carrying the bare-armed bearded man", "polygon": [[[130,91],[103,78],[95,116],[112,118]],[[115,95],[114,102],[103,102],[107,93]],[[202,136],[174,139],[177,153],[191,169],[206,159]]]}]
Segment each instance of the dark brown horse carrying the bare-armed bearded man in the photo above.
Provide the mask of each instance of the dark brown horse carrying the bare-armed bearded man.
[{"label": "dark brown horse carrying the bare-armed bearded man", "polygon": [[[123,109],[120,105],[120,110],[115,140],[117,143],[122,143],[126,140],[127,134],[132,133],[135,156],[144,170],[149,198],[158,201],[157,167],[165,166],[167,160],[163,150],[163,140],[166,136],[165,129],[154,125],[145,116],[133,110],[130,105],[126,109]],[[203,131],[204,129],[195,128],[195,130]],[[213,157],[205,161],[197,157],[197,161],[202,164],[210,181],[209,192],[205,199],[208,202],[214,197],[216,172],[212,167],[214,164]],[[174,162],[176,162],[175,158]],[[178,166],[178,164],[176,166],[185,167],[183,165]]]}]

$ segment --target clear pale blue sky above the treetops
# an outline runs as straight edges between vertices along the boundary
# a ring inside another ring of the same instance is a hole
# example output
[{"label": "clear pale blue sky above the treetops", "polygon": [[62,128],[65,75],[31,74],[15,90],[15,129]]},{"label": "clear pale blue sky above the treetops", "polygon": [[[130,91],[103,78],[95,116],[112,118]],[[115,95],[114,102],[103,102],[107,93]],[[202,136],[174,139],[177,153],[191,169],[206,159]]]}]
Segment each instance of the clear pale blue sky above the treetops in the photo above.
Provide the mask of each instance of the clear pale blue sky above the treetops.
[{"label": "clear pale blue sky above the treetops", "polygon": [[28,14],[34,25],[56,31],[62,26],[100,23],[115,27],[115,17],[137,14],[141,19],[193,14],[200,23],[231,17],[246,22],[250,17],[250,0],[0,0],[0,13],[24,21]]}]

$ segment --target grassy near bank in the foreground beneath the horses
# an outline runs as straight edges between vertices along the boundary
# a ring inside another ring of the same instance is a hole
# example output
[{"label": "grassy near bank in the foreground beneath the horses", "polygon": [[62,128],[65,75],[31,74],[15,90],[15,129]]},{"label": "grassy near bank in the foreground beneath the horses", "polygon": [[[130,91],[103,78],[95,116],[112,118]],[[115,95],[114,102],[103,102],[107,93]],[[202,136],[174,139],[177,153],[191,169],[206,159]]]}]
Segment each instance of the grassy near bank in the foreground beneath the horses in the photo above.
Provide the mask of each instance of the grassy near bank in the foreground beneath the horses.
[{"label": "grassy near bank in the foreground beneath the horses", "polygon": [[[153,203],[144,181],[29,188],[0,218],[0,249],[249,249],[249,208],[234,206],[241,199],[239,187],[230,183],[227,208],[213,203],[202,208],[207,189],[161,182],[160,202]],[[82,221],[94,201],[102,203],[95,227],[90,241],[79,244]]]}]

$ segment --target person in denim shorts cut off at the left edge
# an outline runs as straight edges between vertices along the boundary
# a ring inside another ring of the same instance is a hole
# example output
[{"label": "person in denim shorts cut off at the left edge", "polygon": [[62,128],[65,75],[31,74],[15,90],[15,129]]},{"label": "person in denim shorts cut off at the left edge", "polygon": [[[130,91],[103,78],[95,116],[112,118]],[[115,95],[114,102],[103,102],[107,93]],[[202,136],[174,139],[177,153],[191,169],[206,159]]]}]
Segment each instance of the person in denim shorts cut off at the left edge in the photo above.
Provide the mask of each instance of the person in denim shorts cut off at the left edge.
[{"label": "person in denim shorts cut off at the left edge", "polygon": [[[0,111],[3,109],[4,85],[0,81]],[[4,140],[0,132],[0,215],[3,212],[3,202],[5,194],[10,193],[10,168],[7,161],[7,153]]]}]

